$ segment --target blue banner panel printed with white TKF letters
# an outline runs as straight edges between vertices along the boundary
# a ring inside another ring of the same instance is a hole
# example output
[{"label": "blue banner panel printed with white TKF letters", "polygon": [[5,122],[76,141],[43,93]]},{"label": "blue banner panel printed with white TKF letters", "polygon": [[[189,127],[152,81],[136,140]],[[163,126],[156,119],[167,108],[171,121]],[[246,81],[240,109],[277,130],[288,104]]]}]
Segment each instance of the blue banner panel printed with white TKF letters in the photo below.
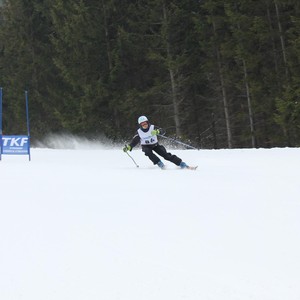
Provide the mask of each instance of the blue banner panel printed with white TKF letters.
[{"label": "blue banner panel printed with white TKF letters", "polygon": [[2,154],[30,154],[30,141],[27,135],[2,135]]}]

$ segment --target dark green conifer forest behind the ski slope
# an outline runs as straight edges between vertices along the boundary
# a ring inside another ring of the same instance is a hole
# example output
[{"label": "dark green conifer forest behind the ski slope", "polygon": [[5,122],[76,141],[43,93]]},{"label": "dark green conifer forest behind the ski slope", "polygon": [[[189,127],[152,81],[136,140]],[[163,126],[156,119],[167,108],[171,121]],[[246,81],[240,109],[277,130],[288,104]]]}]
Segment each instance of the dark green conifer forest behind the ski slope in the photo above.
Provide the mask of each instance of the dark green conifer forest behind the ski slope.
[{"label": "dark green conifer forest behind the ski slope", "polygon": [[1,0],[3,134],[300,146],[299,0]]}]

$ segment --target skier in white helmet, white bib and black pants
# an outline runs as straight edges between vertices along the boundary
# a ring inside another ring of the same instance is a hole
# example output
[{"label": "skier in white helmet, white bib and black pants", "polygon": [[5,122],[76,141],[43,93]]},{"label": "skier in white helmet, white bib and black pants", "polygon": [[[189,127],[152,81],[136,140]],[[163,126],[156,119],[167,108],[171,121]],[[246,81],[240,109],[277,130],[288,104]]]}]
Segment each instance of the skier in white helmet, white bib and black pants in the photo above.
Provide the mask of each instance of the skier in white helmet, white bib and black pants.
[{"label": "skier in white helmet, white bib and black pants", "polygon": [[142,145],[142,151],[153,162],[154,165],[158,165],[161,169],[165,168],[164,163],[159,159],[158,155],[162,156],[165,160],[171,161],[180,168],[189,168],[189,166],[182,161],[181,158],[174,154],[167,152],[166,148],[158,143],[157,135],[164,133],[162,129],[149,123],[147,117],[140,116],[138,118],[139,129],[136,135],[133,137],[129,145],[125,145],[124,152],[131,151],[139,142]]}]

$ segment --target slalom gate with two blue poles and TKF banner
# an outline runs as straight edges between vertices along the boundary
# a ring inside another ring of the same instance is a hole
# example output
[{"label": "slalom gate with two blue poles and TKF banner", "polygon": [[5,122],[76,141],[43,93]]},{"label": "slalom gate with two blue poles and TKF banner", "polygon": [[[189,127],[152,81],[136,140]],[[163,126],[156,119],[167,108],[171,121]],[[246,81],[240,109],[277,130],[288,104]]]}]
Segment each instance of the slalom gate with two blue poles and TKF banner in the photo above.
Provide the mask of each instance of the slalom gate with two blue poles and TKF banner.
[{"label": "slalom gate with two blue poles and TKF banner", "polygon": [[27,122],[27,135],[3,135],[2,128],[2,113],[3,113],[3,91],[0,88],[0,160],[2,155],[30,155],[30,128],[29,128],[29,111],[28,111],[28,92],[25,91],[25,104],[26,104],[26,122]]}]

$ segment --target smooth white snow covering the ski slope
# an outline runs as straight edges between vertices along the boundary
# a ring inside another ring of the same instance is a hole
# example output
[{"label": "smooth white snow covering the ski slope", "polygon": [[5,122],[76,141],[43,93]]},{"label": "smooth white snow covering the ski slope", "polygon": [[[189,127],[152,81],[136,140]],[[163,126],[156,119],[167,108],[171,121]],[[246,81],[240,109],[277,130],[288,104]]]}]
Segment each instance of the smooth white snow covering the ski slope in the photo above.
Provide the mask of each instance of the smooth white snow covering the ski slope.
[{"label": "smooth white snow covering the ski slope", "polygon": [[0,299],[299,300],[300,149],[170,151],[2,156]]}]

